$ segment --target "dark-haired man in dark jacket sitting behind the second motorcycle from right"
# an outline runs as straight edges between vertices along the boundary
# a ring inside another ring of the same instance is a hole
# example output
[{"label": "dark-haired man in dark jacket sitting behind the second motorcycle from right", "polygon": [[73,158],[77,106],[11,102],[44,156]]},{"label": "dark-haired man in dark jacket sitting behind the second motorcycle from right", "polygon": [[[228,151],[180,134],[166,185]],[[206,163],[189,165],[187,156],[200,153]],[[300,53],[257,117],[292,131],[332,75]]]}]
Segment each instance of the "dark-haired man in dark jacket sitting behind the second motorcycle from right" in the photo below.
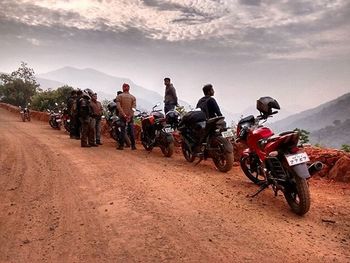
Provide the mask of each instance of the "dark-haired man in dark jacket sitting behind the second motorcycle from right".
[{"label": "dark-haired man in dark jacket sitting behind the second motorcycle from right", "polygon": [[213,85],[207,84],[203,87],[204,97],[201,98],[196,108],[200,108],[206,115],[207,119],[222,116],[219,105],[216,100],[212,97],[214,96]]}]

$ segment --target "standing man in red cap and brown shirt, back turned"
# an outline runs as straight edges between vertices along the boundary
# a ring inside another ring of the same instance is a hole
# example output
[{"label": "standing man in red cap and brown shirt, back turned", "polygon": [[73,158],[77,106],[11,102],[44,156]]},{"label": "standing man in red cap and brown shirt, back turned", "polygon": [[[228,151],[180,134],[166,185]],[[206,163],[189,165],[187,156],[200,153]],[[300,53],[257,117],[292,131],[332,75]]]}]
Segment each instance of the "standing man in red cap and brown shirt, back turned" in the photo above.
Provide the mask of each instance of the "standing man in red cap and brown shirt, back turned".
[{"label": "standing man in red cap and brown shirt, back turned", "polygon": [[129,93],[130,86],[127,83],[124,83],[123,93],[119,94],[116,98],[118,115],[123,126],[121,127],[120,136],[119,136],[119,145],[117,146],[118,150],[124,149],[125,143],[125,133],[128,129],[128,134],[130,136],[131,149],[136,150],[135,146],[135,135],[134,135],[134,110],[136,108],[136,98]]}]

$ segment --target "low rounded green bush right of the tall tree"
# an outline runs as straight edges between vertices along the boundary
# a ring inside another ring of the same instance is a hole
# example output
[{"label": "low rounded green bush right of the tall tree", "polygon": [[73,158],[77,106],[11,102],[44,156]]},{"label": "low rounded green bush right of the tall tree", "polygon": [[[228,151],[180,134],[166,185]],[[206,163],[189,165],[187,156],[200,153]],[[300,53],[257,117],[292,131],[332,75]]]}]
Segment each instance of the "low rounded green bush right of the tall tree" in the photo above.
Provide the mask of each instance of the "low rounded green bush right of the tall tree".
[{"label": "low rounded green bush right of the tall tree", "polygon": [[64,85],[56,90],[37,92],[32,98],[32,108],[38,111],[54,109],[56,102],[59,105],[66,103],[72,90],[72,87]]}]

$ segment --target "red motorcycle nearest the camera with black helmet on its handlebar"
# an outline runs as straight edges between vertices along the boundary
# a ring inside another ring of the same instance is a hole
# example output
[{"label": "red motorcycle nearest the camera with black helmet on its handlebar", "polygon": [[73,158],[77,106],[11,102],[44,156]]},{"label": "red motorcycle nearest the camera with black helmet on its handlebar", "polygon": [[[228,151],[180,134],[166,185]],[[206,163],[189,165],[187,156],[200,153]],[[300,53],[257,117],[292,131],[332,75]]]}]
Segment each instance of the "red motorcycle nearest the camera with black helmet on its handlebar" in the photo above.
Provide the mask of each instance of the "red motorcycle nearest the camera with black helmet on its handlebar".
[{"label": "red motorcycle nearest the camera with black helmet on its handlebar", "polygon": [[240,159],[244,174],[260,186],[253,197],[271,185],[275,196],[282,191],[292,211],[304,215],[310,209],[307,179],[323,165],[321,162],[307,165],[310,159],[298,145],[298,132],[274,135],[271,129],[261,125],[277,113],[273,109],[280,109],[276,100],[262,97],[257,101],[257,109],[259,116],[250,115],[239,121],[236,139],[248,146]]}]

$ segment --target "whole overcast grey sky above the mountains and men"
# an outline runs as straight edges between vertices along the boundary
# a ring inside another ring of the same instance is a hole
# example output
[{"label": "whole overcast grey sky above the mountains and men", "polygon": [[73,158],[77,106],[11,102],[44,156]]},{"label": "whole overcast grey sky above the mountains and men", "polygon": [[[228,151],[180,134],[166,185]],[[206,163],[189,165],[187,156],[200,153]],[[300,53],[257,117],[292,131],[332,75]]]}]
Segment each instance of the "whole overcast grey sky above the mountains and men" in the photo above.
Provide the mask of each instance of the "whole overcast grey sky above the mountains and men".
[{"label": "whole overcast grey sky above the mountains and men", "polygon": [[[299,112],[350,91],[348,0],[0,0],[0,72],[94,68],[190,103]],[[119,87],[116,87],[116,90]]]}]

